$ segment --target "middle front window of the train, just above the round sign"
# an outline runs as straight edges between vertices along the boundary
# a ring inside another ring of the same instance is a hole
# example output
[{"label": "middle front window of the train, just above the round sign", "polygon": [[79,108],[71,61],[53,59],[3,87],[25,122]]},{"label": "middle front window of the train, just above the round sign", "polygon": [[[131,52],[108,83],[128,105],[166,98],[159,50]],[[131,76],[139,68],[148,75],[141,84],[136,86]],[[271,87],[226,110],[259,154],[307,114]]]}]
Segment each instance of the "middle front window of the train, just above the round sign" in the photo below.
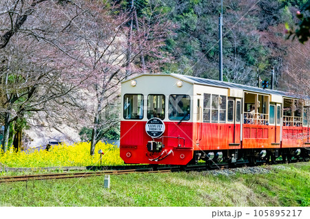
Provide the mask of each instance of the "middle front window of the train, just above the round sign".
[{"label": "middle front window of the train, just above the round sign", "polygon": [[147,97],[147,119],[165,119],[165,95],[150,94]]}]

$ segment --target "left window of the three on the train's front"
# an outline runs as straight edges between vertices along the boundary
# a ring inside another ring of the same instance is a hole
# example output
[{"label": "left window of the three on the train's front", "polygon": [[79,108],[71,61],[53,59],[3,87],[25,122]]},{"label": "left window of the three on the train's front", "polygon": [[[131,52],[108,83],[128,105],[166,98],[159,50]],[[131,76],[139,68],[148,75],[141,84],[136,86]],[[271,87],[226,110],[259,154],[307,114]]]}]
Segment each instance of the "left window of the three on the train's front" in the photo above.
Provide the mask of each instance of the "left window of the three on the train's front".
[{"label": "left window of the three on the train's front", "polygon": [[125,94],[124,95],[124,119],[143,119],[143,95]]}]

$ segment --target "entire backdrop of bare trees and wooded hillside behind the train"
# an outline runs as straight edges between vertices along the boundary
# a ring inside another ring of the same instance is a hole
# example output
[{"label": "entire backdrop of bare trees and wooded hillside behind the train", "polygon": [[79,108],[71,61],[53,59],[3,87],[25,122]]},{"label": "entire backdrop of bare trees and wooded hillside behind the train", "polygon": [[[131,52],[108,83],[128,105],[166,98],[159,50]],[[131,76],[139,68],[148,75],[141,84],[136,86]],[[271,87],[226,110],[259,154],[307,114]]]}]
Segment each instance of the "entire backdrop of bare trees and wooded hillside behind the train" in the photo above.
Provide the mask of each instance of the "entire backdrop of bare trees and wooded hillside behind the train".
[{"label": "entire backdrop of bare trees and wooded hillside behind the train", "polygon": [[[224,0],[224,80],[256,86],[274,67],[276,89],[306,82],[301,90],[310,93],[310,43],[285,34],[306,2]],[[92,148],[118,137],[120,84],[137,73],[217,80],[220,12],[220,0],[2,1],[3,150],[20,148],[34,126],[83,128]]]}]

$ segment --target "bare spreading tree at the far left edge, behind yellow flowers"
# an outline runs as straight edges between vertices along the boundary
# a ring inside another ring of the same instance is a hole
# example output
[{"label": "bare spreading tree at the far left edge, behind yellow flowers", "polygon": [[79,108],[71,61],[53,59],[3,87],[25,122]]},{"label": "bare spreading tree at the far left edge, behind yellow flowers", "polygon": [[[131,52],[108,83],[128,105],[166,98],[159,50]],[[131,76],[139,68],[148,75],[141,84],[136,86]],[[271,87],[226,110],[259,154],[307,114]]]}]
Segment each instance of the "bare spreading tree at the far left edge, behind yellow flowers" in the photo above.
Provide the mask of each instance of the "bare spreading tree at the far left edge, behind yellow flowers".
[{"label": "bare spreading tree at the far left edge, behind yellow flowers", "polygon": [[0,95],[6,152],[10,124],[15,122],[19,139],[15,144],[20,144],[22,127],[17,120],[30,112],[51,114],[53,104],[74,105],[68,94],[87,76],[76,71],[81,65],[68,37],[74,33],[69,30],[74,18],[84,12],[79,5],[73,1],[6,1],[0,4],[0,11]]}]

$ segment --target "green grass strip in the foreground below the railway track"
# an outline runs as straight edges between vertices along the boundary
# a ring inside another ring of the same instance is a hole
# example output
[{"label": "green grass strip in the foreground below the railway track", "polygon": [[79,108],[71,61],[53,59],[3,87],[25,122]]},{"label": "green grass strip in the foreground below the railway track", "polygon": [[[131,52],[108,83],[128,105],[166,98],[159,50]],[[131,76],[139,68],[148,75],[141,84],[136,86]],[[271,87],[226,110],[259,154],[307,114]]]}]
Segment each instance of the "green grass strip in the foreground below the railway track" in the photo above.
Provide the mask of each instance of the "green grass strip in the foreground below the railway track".
[{"label": "green grass strip in the foreground below the railway track", "polygon": [[1,206],[310,206],[310,163],[268,174],[128,174],[0,184]]}]

